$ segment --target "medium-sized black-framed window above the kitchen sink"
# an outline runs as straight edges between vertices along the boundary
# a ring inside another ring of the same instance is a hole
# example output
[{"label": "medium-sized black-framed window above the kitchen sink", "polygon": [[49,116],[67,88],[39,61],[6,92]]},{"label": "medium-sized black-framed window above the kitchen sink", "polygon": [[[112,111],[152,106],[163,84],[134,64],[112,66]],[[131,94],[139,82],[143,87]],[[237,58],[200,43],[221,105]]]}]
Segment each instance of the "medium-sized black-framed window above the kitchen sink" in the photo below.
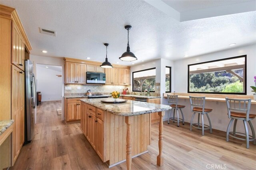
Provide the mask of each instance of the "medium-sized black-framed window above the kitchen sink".
[{"label": "medium-sized black-framed window above the kitchen sink", "polygon": [[132,72],[132,91],[155,92],[156,68]]}]

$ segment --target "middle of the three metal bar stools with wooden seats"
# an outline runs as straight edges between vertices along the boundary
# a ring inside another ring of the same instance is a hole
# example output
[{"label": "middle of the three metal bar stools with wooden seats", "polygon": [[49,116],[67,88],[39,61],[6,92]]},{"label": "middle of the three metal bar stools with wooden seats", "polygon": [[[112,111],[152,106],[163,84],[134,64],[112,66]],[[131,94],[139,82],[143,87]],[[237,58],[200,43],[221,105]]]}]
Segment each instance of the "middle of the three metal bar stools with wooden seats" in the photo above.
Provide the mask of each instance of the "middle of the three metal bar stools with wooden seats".
[{"label": "middle of the three metal bar stools with wooden seats", "polygon": [[[210,113],[212,111],[212,109],[204,108],[205,97],[189,96],[189,100],[190,100],[191,112],[193,112],[193,115],[192,115],[192,118],[190,121],[190,131],[192,131],[192,126],[193,126],[197,129],[202,129],[202,135],[204,135],[204,130],[207,130],[207,129],[210,129],[210,133],[212,133],[212,123],[211,123],[210,117],[208,115],[208,113]],[[198,122],[192,123],[196,113],[198,113]],[[209,126],[204,125],[204,114],[206,114],[206,116],[208,118],[208,121],[210,124]],[[202,123],[200,123],[200,116],[202,119]],[[197,127],[195,125],[197,125]],[[200,125],[202,126],[202,128],[200,127]]]}]

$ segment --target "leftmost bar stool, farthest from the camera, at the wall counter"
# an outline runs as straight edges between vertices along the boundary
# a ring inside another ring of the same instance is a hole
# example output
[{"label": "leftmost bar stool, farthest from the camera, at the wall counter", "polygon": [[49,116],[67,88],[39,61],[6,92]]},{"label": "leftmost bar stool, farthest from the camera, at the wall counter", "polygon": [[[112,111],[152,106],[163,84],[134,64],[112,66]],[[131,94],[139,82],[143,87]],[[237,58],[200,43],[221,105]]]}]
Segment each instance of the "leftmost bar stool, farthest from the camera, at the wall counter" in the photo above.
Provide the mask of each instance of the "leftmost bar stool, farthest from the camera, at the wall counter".
[{"label": "leftmost bar stool, farthest from the camera, at the wall counter", "polygon": [[[182,105],[178,105],[178,95],[176,96],[172,96],[172,95],[167,95],[167,98],[168,98],[168,103],[171,103],[171,107],[173,108],[173,117],[170,118],[170,114],[171,114],[171,110],[170,110],[170,113],[168,115],[168,124],[170,124],[170,119],[173,121],[173,122],[177,122],[177,126],[179,127],[179,123],[182,121],[182,124],[184,125],[184,115],[182,113],[182,110],[185,106],[182,106]],[[180,109],[180,113],[182,115],[182,119],[179,118],[179,110]],[[175,117],[175,110],[177,110],[177,117]]]}]

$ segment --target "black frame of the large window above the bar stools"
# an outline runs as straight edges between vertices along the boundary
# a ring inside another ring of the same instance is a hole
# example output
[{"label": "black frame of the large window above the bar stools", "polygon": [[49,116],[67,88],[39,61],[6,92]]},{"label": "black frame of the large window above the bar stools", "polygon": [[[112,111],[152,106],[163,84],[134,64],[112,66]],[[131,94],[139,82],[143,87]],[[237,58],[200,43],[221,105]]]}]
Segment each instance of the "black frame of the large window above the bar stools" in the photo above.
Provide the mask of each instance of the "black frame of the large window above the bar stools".
[{"label": "black frame of the large window above the bar stools", "polygon": [[[190,92],[189,91],[189,66],[197,65],[197,64],[205,64],[205,63],[212,63],[216,61],[224,61],[224,60],[229,60],[229,59],[236,59],[236,58],[242,58],[244,57],[244,92],[243,93],[228,93],[228,92]],[[195,64],[188,64],[188,82],[187,82],[187,92],[188,93],[201,93],[201,94],[236,94],[236,95],[246,95],[247,94],[247,55],[240,55],[236,57],[229,57],[229,58],[224,58],[224,59],[218,59],[218,60],[212,60],[212,61],[206,61],[202,63],[195,63]]]}]

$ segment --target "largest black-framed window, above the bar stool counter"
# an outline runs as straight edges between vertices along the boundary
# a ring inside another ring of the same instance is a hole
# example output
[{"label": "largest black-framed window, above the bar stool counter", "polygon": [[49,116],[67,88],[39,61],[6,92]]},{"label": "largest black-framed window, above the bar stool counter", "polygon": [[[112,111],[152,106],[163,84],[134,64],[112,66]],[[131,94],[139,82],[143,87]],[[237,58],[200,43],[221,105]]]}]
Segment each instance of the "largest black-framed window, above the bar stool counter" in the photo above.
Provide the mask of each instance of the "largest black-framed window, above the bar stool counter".
[{"label": "largest black-framed window, above the bar stool counter", "polygon": [[246,55],[188,65],[188,93],[246,94]]}]

